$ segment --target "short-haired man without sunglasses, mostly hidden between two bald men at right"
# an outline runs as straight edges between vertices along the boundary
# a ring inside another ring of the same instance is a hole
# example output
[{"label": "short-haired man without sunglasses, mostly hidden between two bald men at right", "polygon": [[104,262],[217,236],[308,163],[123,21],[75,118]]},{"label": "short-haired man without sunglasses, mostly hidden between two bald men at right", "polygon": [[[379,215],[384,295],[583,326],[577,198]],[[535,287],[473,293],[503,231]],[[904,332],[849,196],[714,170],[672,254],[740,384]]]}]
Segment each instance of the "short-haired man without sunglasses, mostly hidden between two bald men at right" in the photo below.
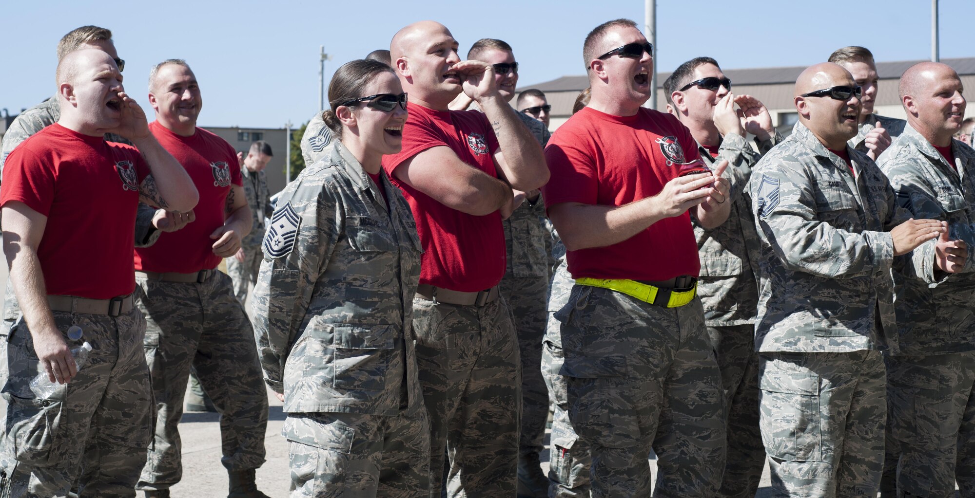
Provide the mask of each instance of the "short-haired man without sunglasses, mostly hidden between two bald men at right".
[{"label": "short-haired man without sunglasses, mostly hidden between two bald men at right", "polygon": [[867,153],[872,160],[877,160],[890,147],[890,141],[904,132],[907,122],[874,114],[879,83],[874,53],[863,47],[843,47],[832,53],[829,61],[843,66],[843,69],[853,75],[853,81],[863,89],[860,122],[856,136],[850,139],[850,147]]}]

